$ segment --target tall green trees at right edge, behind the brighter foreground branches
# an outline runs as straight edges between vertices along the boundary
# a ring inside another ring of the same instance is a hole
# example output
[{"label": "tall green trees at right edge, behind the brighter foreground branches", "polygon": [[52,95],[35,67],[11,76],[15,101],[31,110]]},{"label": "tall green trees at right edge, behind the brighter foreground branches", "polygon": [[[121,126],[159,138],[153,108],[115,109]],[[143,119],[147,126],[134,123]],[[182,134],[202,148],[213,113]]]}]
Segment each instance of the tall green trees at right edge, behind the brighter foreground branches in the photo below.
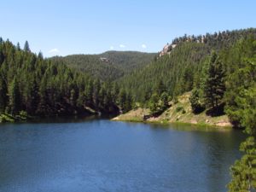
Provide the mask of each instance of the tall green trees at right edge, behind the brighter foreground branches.
[{"label": "tall green trees at right edge, behind the brighter foreground branches", "polygon": [[[236,126],[241,125],[241,110],[245,105],[245,90],[256,82],[256,41],[253,37],[238,42],[230,52],[224,52],[230,75],[224,99],[225,112]],[[235,55],[235,58],[234,58]]]}]

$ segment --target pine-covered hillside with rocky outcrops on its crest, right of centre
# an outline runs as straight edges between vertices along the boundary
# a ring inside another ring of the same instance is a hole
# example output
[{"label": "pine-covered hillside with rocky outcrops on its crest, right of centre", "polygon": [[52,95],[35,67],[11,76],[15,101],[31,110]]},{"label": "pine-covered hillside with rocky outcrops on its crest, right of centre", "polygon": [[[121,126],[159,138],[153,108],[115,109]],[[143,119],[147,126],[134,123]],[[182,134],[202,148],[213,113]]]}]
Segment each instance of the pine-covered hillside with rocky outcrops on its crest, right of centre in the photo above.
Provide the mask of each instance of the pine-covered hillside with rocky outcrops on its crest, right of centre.
[{"label": "pine-covered hillside with rocky outcrops on its crest, right of centre", "polygon": [[172,44],[177,46],[169,54],[125,76],[120,84],[132,92],[136,102],[145,103],[154,93],[160,95],[164,91],[168,96],[179,96],[201,84],[202,71],[213,50],[222,53],[255,34],[256,29],[250,28],[175,38]]}]

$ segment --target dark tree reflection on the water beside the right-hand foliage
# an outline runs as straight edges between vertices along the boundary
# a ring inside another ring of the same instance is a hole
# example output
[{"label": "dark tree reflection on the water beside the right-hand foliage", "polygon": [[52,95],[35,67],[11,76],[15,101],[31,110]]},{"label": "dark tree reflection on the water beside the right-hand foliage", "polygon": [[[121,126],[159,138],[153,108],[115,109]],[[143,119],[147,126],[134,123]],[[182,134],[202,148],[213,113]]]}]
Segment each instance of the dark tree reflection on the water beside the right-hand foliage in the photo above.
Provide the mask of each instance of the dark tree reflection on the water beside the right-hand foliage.
[{"label": "dark tree reflection on the water beside the right-hand foliage", "polygon": [[208,191],[221,191],[230,181],[230,165],[240,153],[239,143],[244,139],[240,131],[201,133],[205,146]]}]

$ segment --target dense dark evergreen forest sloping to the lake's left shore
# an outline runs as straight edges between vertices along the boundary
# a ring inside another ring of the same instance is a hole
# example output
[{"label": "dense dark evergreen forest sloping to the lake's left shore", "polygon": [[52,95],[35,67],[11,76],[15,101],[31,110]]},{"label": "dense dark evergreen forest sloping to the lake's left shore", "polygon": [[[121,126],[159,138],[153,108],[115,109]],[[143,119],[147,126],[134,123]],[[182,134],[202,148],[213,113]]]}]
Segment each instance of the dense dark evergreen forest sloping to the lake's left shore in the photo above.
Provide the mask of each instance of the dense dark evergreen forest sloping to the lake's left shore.
[{"label": "dense dark evergreen forest sloping to the lake's left shore", "polygon": [[117,84],[33,54],[27,42],[20,49],[0,39],[0,113],[52,116],[130,108],[131,96]]}]

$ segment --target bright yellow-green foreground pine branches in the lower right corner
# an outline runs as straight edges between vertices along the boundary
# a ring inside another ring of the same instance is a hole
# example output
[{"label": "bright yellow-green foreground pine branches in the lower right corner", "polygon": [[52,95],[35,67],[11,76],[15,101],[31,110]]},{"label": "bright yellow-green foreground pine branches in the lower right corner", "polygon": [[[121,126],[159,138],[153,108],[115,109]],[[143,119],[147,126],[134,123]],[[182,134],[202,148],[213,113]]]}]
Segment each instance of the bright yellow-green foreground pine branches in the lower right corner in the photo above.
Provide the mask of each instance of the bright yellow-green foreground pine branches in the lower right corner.
[{"label": "bright yellow-green foreground pine branches in the lower right corner", "polygon": [[232,181],[229,184],[230,192],[253,191],[256,189],[256,86],[246,90],[241,98],[240,109],[241,125],[246,127],[249,137],[241,143],[241,151],[244,155],[241,160],[236,160],[231,167]]}]

